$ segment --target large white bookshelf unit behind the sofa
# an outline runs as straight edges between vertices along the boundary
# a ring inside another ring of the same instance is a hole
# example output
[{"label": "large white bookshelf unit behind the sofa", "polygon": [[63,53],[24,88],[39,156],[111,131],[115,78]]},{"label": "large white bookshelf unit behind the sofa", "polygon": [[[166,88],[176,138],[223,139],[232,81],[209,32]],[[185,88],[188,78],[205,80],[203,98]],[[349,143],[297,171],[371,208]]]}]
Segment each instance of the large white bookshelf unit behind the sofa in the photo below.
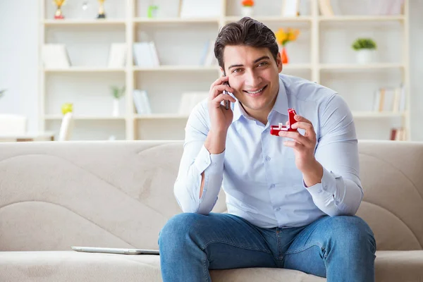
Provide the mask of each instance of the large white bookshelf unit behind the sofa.
[{"label": "large white bookshelf unit behind the sofa", "polygon": [[[91,1],[94,12],[88,18],[78,13],[82,2],[67,1],[62,9],[64,20],[52,19],[55,8],[50,0],[39,2],[39,49],[44,43],[66,44],[73,63],[70,68],[44,68],[39,60],[39,128],[58,132],[60,106],[73,102],[77,122],[74,140],[104,140],[109,136],[124,140],[182,139],[188,115],[178,114],[181,94],[208,91],[221,75],[218,66],[197,63],[204,41],[215,39],[226,23],[242,18],[238,0],[223,0],[221,16],[212,18],[179,18],[178,1],[174,1],[176,6],[165,0],[155,1],[164,7],[167,16],[147,18],[145,1],[107,0],[107,18],[101,20],[94,19],[97,1]],[[279,16],[282,1],[256,2],[252,17],[272,30],[300,29],[298,41],[288,44],[290,63],[283,66],[282,73],[338,91],[353,111],[360,139],[388,139],[390,127],[405,128],[410,139],[409,0],[405,0],[403,14],[398,16],[320,16],[317,1],[307,0],[302,2],[300,16],[286,18]],[[154,40],[161,66],[135,66],[133,54],[128,52],[126,60],[130,63],[125,67],[107,67],[111,43],[124,43],[132,50],[133,43],[145,35]],[[355,63],[350,45],[353,39],[367,36],[376,39],[381,58],[360,65]],[[370,109],[377,85],[397,86],[400,82],[407,95],[404,112]],[[119,116],[111,115],[111,85],[126,87]],[[137,114],[132,99],[135,89],[148,92],[153,114]],[[379,133],[369,135],[372,127]]]}]

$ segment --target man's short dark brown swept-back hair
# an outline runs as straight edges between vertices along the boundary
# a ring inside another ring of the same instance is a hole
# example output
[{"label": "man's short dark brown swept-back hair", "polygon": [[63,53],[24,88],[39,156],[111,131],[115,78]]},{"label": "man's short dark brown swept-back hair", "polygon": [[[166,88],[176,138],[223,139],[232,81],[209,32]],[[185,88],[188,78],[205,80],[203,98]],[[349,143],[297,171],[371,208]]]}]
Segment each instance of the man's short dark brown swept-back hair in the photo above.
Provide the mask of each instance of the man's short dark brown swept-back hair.
[{"label": "man's short dark brown swept-back hair", "polygon": [[241,18],[238,22],[223,26],[214,43],[214,56],[219,66],[223,66],[223,49],[226,45],[246,45],[257,48],[269,48],[276,61],[278,44],[276,36],[269,27],[252,18]]}]

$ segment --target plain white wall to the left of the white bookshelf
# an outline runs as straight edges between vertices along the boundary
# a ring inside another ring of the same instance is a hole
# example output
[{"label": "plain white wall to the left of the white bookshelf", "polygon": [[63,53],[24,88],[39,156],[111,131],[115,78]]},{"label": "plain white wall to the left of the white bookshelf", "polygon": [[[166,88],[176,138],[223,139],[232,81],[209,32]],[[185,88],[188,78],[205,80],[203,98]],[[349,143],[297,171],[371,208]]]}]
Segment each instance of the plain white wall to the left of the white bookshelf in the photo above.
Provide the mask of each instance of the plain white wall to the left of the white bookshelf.
[{"label": "plain white wall to the left of the white bookshelf", "polygon": [[38,130],[38,1],[0,1],[0,113],[27,116]]}]

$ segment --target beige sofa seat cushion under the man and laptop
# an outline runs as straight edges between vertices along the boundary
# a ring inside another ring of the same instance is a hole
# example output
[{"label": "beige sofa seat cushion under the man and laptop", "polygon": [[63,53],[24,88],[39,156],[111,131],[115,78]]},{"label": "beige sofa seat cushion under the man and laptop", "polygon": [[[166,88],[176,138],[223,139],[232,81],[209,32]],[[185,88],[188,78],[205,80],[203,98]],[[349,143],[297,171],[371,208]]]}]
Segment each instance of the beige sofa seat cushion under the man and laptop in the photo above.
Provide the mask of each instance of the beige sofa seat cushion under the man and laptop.
[{"label": "beige sofa seat cushion under the man and laptop", "polygon": [[[288,269],[211,271],[213,282],[326,279]],[[376,281],[422,281],[423,251],[376,252]],[[159,256],[85,252],[0,252],[0,281],[161,281]]]}]

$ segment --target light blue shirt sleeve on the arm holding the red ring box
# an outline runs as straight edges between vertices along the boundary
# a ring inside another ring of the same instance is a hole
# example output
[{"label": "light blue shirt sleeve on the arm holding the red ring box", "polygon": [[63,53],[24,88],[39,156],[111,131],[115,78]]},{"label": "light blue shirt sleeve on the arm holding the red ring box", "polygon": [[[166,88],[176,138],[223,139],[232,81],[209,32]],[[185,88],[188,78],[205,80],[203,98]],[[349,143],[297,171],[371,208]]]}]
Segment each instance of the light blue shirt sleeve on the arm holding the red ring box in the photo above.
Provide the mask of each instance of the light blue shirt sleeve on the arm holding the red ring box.
[{"label": "light blue shirt sleeve on the arm holding the red ring box", "polygon": [[364,194],[353,115],[343,98],[333,94],[320,105],[319,121],[315,157],[324,172],[321,183],[307,190],[329,216],[355,215]]}]

